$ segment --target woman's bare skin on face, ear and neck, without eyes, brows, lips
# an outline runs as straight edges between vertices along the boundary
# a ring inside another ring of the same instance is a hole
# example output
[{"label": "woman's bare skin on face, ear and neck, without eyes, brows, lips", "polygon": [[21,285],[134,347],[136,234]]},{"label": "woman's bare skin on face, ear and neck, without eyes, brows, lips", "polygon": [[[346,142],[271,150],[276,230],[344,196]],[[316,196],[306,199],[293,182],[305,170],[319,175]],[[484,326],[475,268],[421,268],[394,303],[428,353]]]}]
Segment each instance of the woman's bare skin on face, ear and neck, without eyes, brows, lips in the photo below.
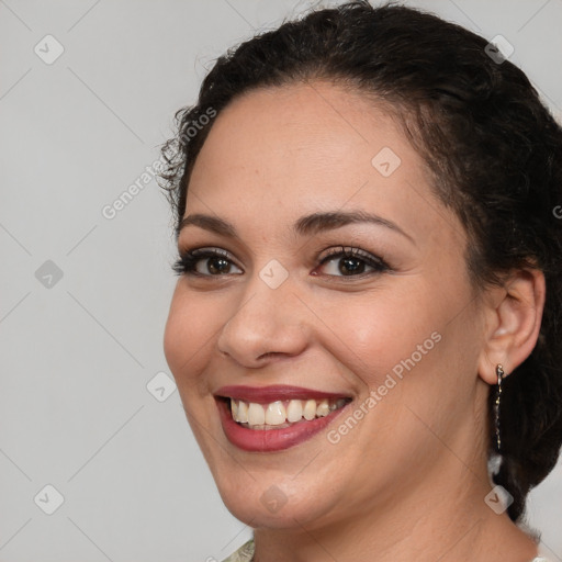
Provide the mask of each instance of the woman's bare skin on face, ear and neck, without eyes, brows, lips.
[{"label": "woman's bare skin on face, ear and neck, without eyes, brows, lips", "polygon": [[[383,147],[402,160],[389,177],[371,164]],[[326,211],[376,213],[405,235],[370,223],[292,229]],[[509,374],[535,346],[542,274],[476,291],[465,232],[401,128],[323,81],[255,90],[218,114],[190,180],[186,216],[199,213],[237,237],[188,225],[179,249],[222,248],[233,266],[180,277],[165,351],[225,505],[255,529],[256,560],[531,560],[533,541],[484,502],[486,398],[495,366]],[[341,276],[338,258],[321,265],[340,246],[390,270],[358,278]],[[272,259],[289,274],[277,289],[259,277]],[[223,432],[222,385],[294,384],[361,404],[434,333],[439,342],[337,445],[321,431],[246,452]],[[260,501],[270,486],[286,499],[276,513]]]}]

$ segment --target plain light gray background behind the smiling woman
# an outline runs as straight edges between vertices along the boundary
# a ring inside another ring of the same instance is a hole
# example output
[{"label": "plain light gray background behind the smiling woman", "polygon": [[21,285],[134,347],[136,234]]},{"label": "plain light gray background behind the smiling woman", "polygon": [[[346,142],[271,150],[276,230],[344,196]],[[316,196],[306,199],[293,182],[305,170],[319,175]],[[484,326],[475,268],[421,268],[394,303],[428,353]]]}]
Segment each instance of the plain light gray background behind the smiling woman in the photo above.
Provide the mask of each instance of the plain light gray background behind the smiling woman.
[{"label": "plain light gray background behind the smiling woman", "polygon": [[[166,201],[150,181],[102,210],[158,158],[213,58],[312,3],[0,0],[0,562],[222,560],[250,536],[168,379]],[[562,0],[408,3],[504,35],[560,115]],[[53,515],[46,485],[64,496]],[[561,504],[559,464],[529,503],[552,560]]]}]

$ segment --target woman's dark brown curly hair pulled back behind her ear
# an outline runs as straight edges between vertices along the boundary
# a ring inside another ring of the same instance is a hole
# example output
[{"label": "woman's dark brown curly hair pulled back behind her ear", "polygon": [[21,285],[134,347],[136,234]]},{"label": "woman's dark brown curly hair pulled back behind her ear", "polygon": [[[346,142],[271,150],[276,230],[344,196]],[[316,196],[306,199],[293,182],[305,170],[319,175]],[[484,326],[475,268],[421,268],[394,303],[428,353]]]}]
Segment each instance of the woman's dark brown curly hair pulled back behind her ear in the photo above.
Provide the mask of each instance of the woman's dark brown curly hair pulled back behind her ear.
[{"label": "woman's dark brown curly hair pulled back behind her ear", "polygon": [[[470,240],[476,288],[519,268],[542,270],[547,300],[538,342],[505,380],[502,465],[508,515],[554,468],[562,443],[562,130],[526,75],[483,37],[434,14],[368,1],[312,11],[231,48],[215,61],[195,105],[176,113],[162,147],[160,184],[177,220],[213,117],[243,93],[330,80],[392,111],[424,158],[439,200]],[[488,401],[488,457],[494,454]]]}]

